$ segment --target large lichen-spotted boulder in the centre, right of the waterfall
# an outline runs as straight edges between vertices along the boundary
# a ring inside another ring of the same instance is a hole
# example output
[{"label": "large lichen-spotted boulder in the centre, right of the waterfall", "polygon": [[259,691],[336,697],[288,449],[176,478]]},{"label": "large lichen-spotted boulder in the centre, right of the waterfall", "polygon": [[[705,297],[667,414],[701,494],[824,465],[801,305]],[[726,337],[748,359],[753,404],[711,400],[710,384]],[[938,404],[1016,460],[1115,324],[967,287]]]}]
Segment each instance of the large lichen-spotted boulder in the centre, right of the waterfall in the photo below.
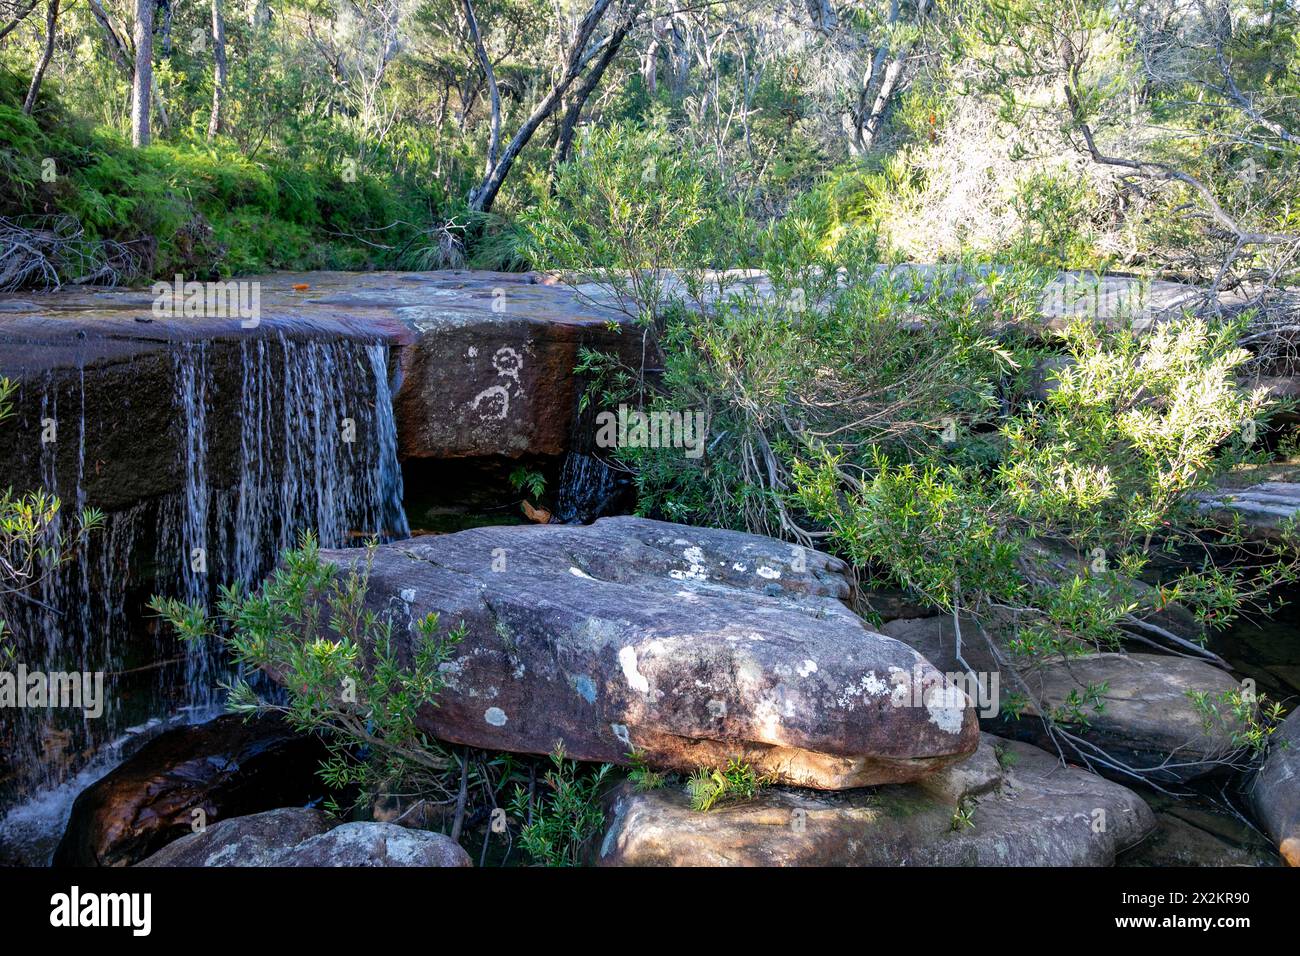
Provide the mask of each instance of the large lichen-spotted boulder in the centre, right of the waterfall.
[{"label": "large lichen-spotted boulder in the centre, right of the waterfall", "polygon": [[[356,551],[325,551],[339,564]],[[749,761],[806,787],[913,780],[970,754],[963,693],[844,604],[836,558],[638,518],[385,545],[367,602],[399,640],[464,623],[430,735],[690,770]]]}]

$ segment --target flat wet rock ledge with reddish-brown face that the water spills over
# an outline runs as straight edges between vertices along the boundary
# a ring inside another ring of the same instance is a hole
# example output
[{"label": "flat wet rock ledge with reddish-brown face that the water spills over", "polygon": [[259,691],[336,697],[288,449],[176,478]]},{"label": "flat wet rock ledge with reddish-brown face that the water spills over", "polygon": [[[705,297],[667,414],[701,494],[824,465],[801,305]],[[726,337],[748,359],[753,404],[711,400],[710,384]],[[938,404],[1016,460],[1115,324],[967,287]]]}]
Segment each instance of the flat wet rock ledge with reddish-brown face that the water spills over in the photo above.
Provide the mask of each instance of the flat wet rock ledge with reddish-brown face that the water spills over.
[{"label": "flat wet rock ledge with reddish-brown face that the water spills over", "polygon": [[[251,325],[238,313],[156,315],[150,289],[0,299],[0,376],[21,385],[12,427],[0,431],[14,485],[35,488],[51,470],[64,480],[81,473],[84,501],[104,510],[182,489],[174,358],[185,349],[202,349],[208,398],[228,410],[208,440],[214,486],[235,477],[222,463],[239,460],[243,375],[257,347],[387,346],[403,458],[558,455],[571,445],[581,347],[659,364],[620,313],[529,274],[316,272],[240,282],[259,289]],[[49,418],[65,429],[61,444],[42,442]],[[68,440],[73,431],[78,441]]]}]

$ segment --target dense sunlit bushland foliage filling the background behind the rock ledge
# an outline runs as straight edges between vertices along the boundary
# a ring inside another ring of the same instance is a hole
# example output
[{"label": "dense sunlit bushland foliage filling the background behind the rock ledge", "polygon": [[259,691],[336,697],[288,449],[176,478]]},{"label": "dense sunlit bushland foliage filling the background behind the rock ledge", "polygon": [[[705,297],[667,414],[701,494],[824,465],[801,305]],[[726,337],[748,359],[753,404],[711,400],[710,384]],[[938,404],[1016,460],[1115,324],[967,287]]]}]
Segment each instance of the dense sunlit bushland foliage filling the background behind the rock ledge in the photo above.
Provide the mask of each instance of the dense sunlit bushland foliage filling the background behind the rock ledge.
[{"label": "dense sunlit bushland foliage filling the background behind the rock ledge", "polygon": [[[0,26],[23,7],[5,0]],[[738,225],[809,199],[826,250],[870,233],[883,256],[922,261],[1227,284],[1296,268],[1294,243],[1249,238],[1294,237],[1300,215],[1300,13],[1287,0],[620,0],[563,87],[585,5],[480,0],[489,75],[454,0],[218,0],[216,133],[212,12],[178,4],[155,25],[147,150],[126,146],[131,8],[96,7],[62,10],[30,118],[39,10],[0,40],[0,216],[66,217],[68,235],[124,243],[69,251],[65,280],[105,263],[100,278],[582,268],[560,246],[597,265],[649,261],[618,247],[667,221],[675,238],[656,254],[755,265]],[[499,215],[472,212],[485,164],[551,91],[559,105],[523,142]],[[524,243],[520,215],[551,242]]]}]

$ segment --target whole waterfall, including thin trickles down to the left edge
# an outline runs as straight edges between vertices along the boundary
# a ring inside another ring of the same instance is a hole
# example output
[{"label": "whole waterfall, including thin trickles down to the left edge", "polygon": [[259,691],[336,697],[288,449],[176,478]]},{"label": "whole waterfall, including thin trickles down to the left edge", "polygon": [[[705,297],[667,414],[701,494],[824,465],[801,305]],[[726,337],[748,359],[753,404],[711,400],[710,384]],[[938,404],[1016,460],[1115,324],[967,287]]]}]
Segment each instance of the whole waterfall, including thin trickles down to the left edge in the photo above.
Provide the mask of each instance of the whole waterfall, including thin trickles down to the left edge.
[{"label": "whole waterfall, including thin trickles down to the left edge", "polygon": [[[174,343],[168,358],[176,490],[109,514],[77,559],[43,581],[39,604],[0,609],[29,670],[103,671],[107,697],[100,719],[0,711],[0,782],[9,778],[0,806],[77,773],[133,724],[177,710],[202,717],[220,704],[229,672],[220,648],[160,633],[143,609],[150,594],[211,602],[220,585],[256,587],[304,531],[326,548],[410,533],[386,345],[268,332]],[[39,407],[51,419],[61,397],[66,410],[81,393],[75,473],[53,446],[39,453],[44,486],[62,494],[66,532],[73,502],[96,502],[84,488],[87,375],[56,377],[23,389],[40,389],[31,414]],[[56,750],[75,757],[52,758]]]}]

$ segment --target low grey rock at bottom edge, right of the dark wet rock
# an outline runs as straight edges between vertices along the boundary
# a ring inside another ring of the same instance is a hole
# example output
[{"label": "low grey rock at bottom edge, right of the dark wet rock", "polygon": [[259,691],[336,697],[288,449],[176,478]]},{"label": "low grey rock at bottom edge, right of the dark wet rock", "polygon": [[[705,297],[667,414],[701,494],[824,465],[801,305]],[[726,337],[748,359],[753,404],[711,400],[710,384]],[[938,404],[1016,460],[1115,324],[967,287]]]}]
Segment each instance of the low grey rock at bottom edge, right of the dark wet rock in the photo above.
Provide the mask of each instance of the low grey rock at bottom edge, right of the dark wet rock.
[{"label": "low grey rock at bottom edge, right of the dark wet rock", "polygon": [[332,825],[318,810],[234,817],[183,836],[140,866],[471,866],[451,838],[391,823]]}]

